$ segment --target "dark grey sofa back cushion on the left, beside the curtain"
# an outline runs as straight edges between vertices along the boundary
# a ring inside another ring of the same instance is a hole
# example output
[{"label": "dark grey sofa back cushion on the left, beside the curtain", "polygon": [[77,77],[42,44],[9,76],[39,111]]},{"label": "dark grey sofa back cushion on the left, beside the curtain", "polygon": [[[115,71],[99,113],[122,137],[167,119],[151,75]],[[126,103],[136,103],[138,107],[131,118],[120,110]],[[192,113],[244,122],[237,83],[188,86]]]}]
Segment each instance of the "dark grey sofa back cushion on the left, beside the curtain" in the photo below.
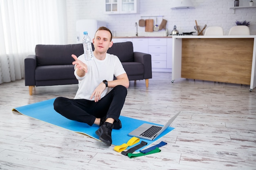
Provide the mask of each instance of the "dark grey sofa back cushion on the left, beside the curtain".
[{"label": "dark grey sofa back cushion on the left, beside the curtain", "polygon": [[83,44],[36,45],[37,66],[72,64],[72,54],[83,54]]}]

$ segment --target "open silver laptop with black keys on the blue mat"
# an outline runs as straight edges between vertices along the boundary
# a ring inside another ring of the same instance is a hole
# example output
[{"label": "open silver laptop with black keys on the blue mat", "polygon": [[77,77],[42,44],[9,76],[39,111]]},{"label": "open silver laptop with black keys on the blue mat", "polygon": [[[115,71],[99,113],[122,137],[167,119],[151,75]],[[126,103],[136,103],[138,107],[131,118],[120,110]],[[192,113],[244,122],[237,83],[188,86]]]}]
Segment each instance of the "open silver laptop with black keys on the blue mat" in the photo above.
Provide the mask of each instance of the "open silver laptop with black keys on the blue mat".
[{"label": "open silver laptop with black keys on the blue mat", "polygon": [[153,141],[155,138],[157,138],[164,130],[166,130],[171,123],[176,119],[176,117],[180,114],[180,111],[173,116],[171,119],[169,119],[164,126],[158,126],[153,124],[147,124],[144,123],[132,132],[128,133],[128,136],[132,137],[138,137],[141,139],[147,139],[150,141]]}]

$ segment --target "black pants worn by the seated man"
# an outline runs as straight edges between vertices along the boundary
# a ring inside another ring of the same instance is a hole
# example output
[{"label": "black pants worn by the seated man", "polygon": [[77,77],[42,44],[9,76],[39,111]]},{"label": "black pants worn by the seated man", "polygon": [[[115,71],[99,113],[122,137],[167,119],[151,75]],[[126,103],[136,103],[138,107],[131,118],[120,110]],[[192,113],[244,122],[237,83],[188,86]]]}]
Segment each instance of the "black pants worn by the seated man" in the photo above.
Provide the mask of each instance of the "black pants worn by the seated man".
[{"label": "black pants worn by the seated man", "polygon": [[80,121],[92,126],[96,118],[105,117],[118,120],[124,106],[127,89],[124,86],[115,86],[98,102],[87,99],[68,99],[57,97],[54,101],[54,110],[67,119]]}]

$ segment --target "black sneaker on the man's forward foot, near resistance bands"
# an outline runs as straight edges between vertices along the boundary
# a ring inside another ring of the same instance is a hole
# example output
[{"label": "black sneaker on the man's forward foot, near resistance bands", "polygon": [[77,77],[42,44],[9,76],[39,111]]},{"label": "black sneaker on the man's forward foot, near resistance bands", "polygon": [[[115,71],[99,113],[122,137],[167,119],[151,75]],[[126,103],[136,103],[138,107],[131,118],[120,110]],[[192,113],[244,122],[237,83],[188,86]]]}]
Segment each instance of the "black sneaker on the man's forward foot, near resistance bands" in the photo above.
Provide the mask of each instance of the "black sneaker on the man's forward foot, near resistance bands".
[{"label": "black sneaker on the man's forward foot, near resistance bands", "polygon": [[114,128],[113,124],[104,122],[104,124],[101,125],[101,127],[99,127],[99,129],[96,130],[95,132],[96,135],[99,136],[99,139],[103,141],[105,144],[107,144],[108,146],[111,146],[112,144],[112,138],[111,138],[112,128]]}]

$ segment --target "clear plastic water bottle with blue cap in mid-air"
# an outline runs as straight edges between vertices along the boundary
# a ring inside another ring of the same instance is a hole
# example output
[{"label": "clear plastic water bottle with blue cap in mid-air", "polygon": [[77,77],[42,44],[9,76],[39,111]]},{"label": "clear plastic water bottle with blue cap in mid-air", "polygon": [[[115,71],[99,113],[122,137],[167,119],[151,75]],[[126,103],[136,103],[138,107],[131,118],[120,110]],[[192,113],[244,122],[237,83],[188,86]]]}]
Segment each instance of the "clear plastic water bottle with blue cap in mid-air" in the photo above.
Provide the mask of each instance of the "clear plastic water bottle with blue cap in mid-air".
[{"label": "clear plastic water bottle with blue cap in mid-air", "polygon": [[87,31],[83,32],[83,53],[85,55],[85,60],[88,61],[93,59],[92,42]]}]

